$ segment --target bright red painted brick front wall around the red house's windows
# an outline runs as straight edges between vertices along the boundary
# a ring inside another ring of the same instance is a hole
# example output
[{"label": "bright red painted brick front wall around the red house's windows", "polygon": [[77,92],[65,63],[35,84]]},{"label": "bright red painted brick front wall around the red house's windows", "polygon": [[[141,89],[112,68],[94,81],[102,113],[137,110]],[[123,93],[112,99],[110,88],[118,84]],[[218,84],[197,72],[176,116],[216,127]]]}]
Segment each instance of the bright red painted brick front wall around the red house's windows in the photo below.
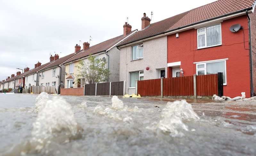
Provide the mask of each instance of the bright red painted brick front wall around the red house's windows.
[{"label": "bright red painted brick front wall around the red house's windows", "polygon": [[[221,23],[222,45],[197,50],[197,30],[191,29],[167,37],[167,63],[181,61],[184,76],[196,74],[194,62],[210,61],[228,58],[226,60],[227,85],[224,86],[224,96],[241,96],[241,92],[250,97],[250,62],[248,43],[247,16],[225,20]],[[236,33],[229,31],[234,24],[241,24],[244,29]],[[245,37],[244,37],[245,35]],[[245,42],[244,42],[245,40]],[[244,48],[245,45],[245,48]],[[171,69],[171,68],[168,68]],[[168,73],[171,70],[168,70]],[[168,74],[170,75],[170,74]]]}]

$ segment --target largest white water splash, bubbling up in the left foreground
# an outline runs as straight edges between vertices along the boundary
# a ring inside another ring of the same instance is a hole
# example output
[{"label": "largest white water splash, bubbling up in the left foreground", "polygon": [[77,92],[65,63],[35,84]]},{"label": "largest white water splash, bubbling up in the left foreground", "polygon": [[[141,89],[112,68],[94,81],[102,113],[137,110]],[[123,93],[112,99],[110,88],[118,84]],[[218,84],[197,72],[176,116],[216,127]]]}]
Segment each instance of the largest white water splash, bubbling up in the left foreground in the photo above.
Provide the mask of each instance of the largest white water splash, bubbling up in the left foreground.
[{"label": "largest white water splash, bubbling up in the left foreground", "polygon": [[53,151],[49,151],[49,147],[82,136],[83,129],[78,126],[71,105],[62,97],[50,99],[47,93],[41,93],[36,98],[35,112],[38,114],[33,123],[32,138],[11,147],[6,155],[51,155],[49,152]]}]

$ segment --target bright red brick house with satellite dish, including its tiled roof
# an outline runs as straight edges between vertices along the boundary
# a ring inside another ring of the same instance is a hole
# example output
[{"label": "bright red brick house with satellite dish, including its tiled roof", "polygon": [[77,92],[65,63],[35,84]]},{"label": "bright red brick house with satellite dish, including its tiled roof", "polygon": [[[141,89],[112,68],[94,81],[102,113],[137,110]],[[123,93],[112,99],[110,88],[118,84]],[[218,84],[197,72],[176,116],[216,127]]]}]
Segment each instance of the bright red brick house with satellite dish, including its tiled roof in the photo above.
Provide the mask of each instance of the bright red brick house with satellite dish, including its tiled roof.
[{"label": "bright red brick house with satellite dish, including its tiled roof", "polygon": [[254,6],[254,0],[219,0],[183,13],[166,31],[168,77],[222,72],[225,96],[255,96]]}]

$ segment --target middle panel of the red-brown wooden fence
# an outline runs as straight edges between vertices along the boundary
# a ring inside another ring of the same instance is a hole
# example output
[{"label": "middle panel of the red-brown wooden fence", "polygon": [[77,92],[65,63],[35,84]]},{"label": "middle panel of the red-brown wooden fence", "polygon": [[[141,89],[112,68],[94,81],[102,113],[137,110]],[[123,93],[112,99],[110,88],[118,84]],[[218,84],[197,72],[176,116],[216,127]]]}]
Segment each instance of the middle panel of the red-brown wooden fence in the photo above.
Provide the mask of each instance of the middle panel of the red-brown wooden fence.
[{"label": "middle panel of the red-brown wooden fence", "polygon": [[193,96],[193,76],[163,79],[163,96]]}]

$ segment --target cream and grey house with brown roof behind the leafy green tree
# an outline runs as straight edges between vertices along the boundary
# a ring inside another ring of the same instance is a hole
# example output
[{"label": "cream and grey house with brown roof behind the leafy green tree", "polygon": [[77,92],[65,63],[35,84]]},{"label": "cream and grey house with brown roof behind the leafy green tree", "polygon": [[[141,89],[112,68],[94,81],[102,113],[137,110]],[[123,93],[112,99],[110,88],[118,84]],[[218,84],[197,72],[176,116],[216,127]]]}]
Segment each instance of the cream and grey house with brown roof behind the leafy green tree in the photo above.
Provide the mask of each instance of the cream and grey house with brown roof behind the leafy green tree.
[{"label": "cream and grey house with brown roof behind the leafy green tree", "polygon": [[[66,66],[65,88],[79,88],[87,83],[84,78],[79,80],[81,83],[74,82],[77,82],[76,80],[78,79],[76,75],[79,74],[77,68],[79,60],[82,59],[83,61],[87,62],[89,56],[94,56],[107,62],[106,68],[109,69],[111,73],[107,82],[119,81],[120,51],[116,48],[116,45],[137,32],[137,30],[131,31],[132,27],[127,22],[125,22],[123,28],[124,33],[122,35],[98,43],[94,46],[90,47],[89,43],[83,43],[82,51],[78,55],[63,63]],[[81,47],[78,46],[78,48]]]}]

